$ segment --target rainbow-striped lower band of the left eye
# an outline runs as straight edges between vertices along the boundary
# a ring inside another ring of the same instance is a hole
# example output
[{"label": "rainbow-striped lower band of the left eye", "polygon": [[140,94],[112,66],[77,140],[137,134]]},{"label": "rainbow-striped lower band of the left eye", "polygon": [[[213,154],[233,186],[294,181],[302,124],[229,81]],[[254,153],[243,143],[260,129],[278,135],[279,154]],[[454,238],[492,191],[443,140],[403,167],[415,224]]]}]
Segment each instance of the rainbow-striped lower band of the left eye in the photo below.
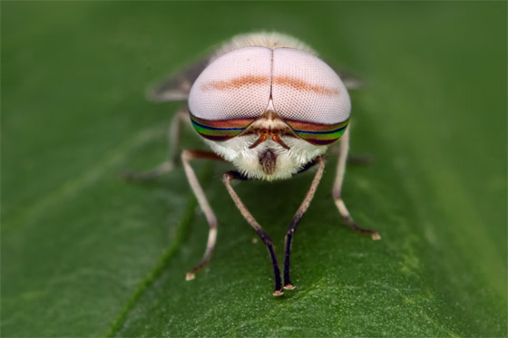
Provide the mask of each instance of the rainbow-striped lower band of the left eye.
[{"label": "rainbow-striped lower band of the left eye", "polygon": [[256,119],[242,120],[203,120],[190,115],[192,126],[198,133],[207,140],[224,141],[238,136],[243,130],[249,127],[249,124]]}]

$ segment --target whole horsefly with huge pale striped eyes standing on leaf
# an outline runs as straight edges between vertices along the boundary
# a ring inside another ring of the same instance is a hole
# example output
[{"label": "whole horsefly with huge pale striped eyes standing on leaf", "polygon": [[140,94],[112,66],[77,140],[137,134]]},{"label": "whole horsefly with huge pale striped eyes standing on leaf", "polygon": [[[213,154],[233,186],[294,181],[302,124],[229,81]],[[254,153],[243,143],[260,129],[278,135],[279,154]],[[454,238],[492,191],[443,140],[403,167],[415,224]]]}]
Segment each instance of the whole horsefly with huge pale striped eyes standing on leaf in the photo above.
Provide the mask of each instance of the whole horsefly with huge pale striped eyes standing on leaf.
[{"label": "whole horsefly with huge pale striped eyes standing on leaf", "polygon": [[[182,150],[181,163],[210,226],[208,243],[198,266],[186,280],[210,261],[217,237],[218,221],[200,186],[191,159],[230,162],[236,169],[222,181],[239,212],[254,228],[269,250],[275,291],[295,286],[289,275],[291,244],[298,223],[306,212],[326,164],[325,152],[340,139],[333,198],[338,212],[352,229],[380,239],[374,230],[358,227],[341,197],[349,150],[351,101],[347,89],[357,80],[339,77],[307,44],[285,34],[241,34],[220,45],[200,62],[161,82],[149,93],[151,101],[188,101],[175,114],[171,132],[171,158],[156,169],[126,173],[128,179],[151,179],[171,171],[180,153],[181,121],[187,120],[212,151]],[[263,230],[239,195],[233,179],[289,179],[317,167],[307,195],[291,220],[284,246],[281,279],[277,256],[269,235]]]}]

